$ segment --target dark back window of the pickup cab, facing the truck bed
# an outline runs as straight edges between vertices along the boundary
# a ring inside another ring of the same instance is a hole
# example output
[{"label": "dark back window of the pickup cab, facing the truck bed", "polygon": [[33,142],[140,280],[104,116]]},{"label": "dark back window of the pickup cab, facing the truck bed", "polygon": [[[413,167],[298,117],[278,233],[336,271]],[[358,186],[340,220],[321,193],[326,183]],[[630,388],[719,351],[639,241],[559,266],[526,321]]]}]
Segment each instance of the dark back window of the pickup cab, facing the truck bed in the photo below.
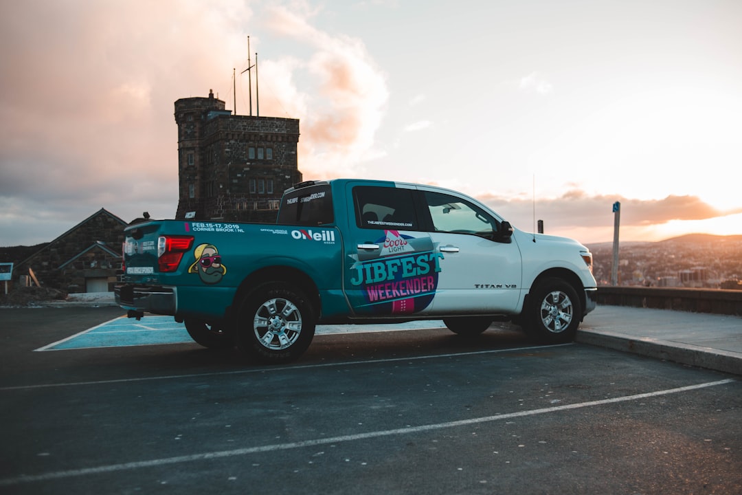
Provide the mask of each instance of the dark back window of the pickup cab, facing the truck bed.
[{"label": "dark back window of the pickup cab, facing the truck bed", "polygon": [[316,226],[333,221],[329,184],[303,187],[281,198],[279,224]]}]

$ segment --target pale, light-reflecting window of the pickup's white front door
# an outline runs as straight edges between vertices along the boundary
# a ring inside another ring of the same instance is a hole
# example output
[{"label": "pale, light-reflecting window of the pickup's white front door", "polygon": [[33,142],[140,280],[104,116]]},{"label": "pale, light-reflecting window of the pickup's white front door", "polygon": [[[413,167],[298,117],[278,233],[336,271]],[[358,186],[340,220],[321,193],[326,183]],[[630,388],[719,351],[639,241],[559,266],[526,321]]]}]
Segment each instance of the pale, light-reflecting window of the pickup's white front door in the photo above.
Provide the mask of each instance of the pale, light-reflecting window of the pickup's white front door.
[{"label": "pale, light-reflecting window of the pickup's white front door", "polygon": [[426,191],[425,201],[436,232],[456,232],[490,238],[497,230],[497,220],[479,206],[462,198]]}]

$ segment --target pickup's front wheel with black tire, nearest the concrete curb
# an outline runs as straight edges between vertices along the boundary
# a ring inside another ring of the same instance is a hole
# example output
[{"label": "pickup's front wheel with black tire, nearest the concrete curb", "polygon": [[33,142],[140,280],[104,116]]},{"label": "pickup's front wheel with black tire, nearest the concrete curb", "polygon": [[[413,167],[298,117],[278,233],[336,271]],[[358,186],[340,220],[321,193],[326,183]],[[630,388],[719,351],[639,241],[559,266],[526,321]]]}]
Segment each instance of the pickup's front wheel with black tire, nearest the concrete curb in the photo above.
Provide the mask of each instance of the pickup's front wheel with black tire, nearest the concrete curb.
[{"label": "pickup's front wheel with black tire, nearest the concrete curb", "polygon": [[561,278],[545,278],[533,286],[524,315],[525,331],[540,344],[574,341],[582,304],[574,287]]}]

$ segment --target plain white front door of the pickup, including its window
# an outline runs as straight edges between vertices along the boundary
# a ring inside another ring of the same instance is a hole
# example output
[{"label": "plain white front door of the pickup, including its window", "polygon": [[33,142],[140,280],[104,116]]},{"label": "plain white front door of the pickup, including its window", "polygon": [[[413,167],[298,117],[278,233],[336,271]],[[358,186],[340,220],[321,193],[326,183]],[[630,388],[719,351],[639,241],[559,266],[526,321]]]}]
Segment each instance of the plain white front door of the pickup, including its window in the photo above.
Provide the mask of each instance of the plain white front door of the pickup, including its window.
[{"label": "plain white front door of the pickup, including its window", "polygon": [[464,198],[432,190],[421,194],[432,223],[433,249],[440,255],[432,312],[515,311],[521,255],[509,236],[497,236],[501,221]]}]

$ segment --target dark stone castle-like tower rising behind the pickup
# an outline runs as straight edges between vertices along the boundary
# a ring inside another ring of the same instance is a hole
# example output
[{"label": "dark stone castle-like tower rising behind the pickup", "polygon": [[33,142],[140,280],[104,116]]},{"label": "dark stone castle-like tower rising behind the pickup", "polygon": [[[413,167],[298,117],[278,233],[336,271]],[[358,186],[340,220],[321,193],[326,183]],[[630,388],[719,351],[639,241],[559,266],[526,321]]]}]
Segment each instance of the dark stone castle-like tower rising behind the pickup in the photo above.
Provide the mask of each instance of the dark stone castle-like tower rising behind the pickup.
[{"label": "dark stone castle-like tower rising behind the pickup", "polygon": [[275,221],[298,170],[299,120],[232,115],[209,97],[175,102],[178,126],[176,218]]}]

